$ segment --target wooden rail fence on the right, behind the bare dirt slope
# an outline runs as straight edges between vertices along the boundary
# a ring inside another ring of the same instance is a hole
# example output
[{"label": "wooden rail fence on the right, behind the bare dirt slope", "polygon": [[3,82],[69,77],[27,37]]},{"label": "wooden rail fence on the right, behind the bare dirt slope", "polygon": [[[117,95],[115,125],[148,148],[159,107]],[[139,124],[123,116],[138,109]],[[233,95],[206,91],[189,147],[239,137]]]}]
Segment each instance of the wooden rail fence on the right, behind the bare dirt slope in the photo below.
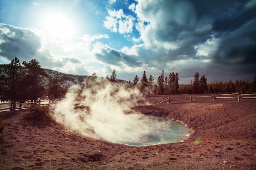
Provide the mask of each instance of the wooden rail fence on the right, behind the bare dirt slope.
[{"label": "wooden rail fence on the right, behind the bare dirt slope", "polygon": [[256,99],[256,93],[249,93],[249,94],[240,94],[239,93],[229,93],[229,94],[212,94],[212,95],[207,95],[207,96],[192,96],[190,95],[189,97],[175,97],[175,98],[168,98],[165,99],[162,102],[158,102],[157,104],[166,102],[168,100],[168,103],[171,103],[172,101],[180,101],[180,100],[190,100],[191,102],[193,100],[204,100],[204,99],[212,99],[213,102],[215,99],[228,99],[228,98],[237,98],[238,102],[240,102],[240,99]]}]

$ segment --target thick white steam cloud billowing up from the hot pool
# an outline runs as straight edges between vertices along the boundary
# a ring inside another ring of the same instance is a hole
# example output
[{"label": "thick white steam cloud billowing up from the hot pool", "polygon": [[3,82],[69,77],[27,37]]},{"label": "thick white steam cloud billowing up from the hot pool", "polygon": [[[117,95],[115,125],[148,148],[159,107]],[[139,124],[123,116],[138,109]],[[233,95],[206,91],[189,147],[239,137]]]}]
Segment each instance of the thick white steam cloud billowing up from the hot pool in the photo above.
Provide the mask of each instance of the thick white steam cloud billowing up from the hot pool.
[{"label": "thick white steam cloud billowing up from the hot pool", "polygon": [[143,101],[137,88],[95,78],[83,86],[72,86],[56,105],[54,116],[67,128],[94,139],[138,143],[151,129],[143,126],[143,115],[130,108],[145,104]]}]

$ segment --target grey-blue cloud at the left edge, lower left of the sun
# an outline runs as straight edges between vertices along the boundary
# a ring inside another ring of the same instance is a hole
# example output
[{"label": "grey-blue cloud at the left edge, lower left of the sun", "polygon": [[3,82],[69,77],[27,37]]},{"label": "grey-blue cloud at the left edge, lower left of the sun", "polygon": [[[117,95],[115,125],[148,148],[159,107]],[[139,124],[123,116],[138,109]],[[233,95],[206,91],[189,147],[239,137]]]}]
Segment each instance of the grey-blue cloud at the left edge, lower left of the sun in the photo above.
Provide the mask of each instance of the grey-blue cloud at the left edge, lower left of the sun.
[{"label": "grey-blue cloud at the left edge, lower left of the sun", "polygon": [[21,60],[33,59],[41,46],[40,37],[32,31],[0,24],[0,55],[12,60],[15,56]]}]

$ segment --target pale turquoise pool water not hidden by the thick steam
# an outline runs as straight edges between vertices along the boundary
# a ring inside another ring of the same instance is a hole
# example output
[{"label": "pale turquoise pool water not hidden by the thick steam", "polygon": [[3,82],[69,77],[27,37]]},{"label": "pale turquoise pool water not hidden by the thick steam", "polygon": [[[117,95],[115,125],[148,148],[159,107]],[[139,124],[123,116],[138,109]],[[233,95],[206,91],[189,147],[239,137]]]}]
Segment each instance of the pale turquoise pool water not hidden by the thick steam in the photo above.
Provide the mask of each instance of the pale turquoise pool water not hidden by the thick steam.
[{"label": "pale turquoise pool water not hidden by the thick steam", "polygon": [[[139,118],[138,122],[139,123],[135,123],[132,128],[129,128],[129,134],[132,134],[131,130],[134,130],[136,139],[128,137],[126,138],[127,140],[119,139],[119,141],[114,141],[114,143],[121,143],[129,146],[168,144],[181,142],[193,133],[193,130],[187,128],[181,122],[164,117],[143,115]],[[141,131],[139,137],[137,136],[136,130]]]}]

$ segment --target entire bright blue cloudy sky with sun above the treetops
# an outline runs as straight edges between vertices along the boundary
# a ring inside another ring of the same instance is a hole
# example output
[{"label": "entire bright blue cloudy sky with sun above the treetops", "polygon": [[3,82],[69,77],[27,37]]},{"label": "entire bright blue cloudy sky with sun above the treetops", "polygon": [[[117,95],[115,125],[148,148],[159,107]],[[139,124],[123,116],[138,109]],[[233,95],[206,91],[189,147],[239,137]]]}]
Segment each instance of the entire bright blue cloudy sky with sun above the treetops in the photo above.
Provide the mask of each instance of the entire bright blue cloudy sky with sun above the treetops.
[{"label": "entire bright blue cloudy sky with sun above the treetops", "polygon": [[118,79],[252,82],[256,0],[0,0],[0,64]]}]

